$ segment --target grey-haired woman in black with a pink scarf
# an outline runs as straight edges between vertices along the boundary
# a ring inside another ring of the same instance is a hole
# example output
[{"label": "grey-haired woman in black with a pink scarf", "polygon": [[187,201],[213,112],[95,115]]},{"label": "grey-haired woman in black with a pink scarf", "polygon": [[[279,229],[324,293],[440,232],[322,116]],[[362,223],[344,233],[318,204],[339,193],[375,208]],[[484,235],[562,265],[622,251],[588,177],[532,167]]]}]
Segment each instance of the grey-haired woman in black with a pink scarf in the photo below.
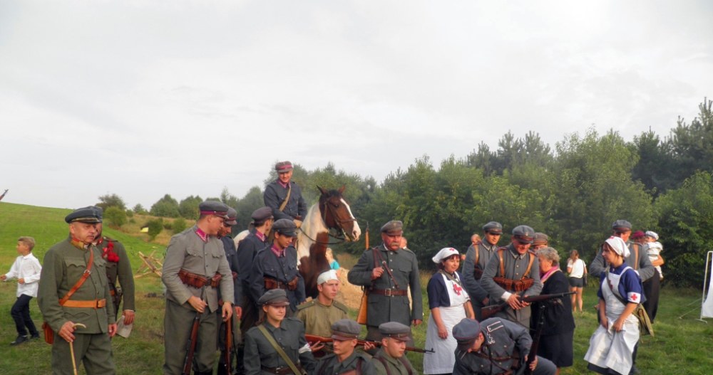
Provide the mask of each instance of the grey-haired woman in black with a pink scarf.
[{"label": "grey-haired woman in black with a pink scarf", "polygon": [[[540,248],[535,254],[540,260],[540,280],[543,283],[543,295],[569,292],[567,276],[560,270],[560,255],[553,248]],[[539,304],[545,304],[540,309]],[[538,347],[538,356],[549,359],[560,367],[572,366],[575,319],[572,316],[572,300],[568,297],[557,298],[533,304],[530,327],[536,327],[540,315],[544,315],[542,336]]]}]

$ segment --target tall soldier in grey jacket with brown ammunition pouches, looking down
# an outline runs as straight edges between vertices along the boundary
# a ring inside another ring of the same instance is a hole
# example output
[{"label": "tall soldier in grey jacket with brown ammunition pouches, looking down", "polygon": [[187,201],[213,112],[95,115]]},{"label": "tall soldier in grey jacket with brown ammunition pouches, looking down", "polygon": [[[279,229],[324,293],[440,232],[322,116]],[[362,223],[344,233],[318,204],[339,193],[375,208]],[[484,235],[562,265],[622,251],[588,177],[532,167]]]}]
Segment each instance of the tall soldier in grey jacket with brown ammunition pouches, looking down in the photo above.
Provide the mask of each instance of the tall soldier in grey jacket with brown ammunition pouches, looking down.
[{"label": "tall soldier in grey jacket with brown ammunition pouches, looking down", "polygon": [[[202,202],[195,226],[171,238],[166,248],[161,280],[166,286],[164,318],[164,374],[180,374],[196,312],[200,313],[198,345],[194,354],[195,374],[212,374],[217,350],[218,316],[232,317],[233,280],[217,233],[228,219],[228,207],[216,201]],[[223,299],[218,305],[218,293]]]}]

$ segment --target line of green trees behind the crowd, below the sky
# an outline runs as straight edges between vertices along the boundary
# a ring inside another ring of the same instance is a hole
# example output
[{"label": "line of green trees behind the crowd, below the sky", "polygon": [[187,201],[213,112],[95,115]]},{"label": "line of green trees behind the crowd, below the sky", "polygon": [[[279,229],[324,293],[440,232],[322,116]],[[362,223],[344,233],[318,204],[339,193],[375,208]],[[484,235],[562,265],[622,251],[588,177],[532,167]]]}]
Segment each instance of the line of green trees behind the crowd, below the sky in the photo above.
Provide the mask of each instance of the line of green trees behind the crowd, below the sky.
[{"label": "line of green trees behind the crowd, below the sky", "polygon": [[[527,224],[547,233],[563,258],[577,249],[592,260],[611,234],[612,222],[623,218],[634,231],[660,234],[667,280],[699,287],[706,253],[713,250],[712,104],[707,99],[700,103],[690,122],[679,117],[665,137],[649,130],[626,141],[618,132],[599,134],[590,128],[566,134],[551,148],[535,132],[523,137],[508,132],[495,150],[481,142],[466,157],[451,155],[438,165],[424,155],[384,181],[337,169],[331,162],[311,171],[295,164],[292,178],[308,204],[318,199],[316,186],[347,186],[345,199],[362,229],[368,223],[371,245],[380,241],[382,223],[404,221],[404,236],[422,269],[429,269],[440,248],[465,251],[471,234],[481,233],[488,221],[502,223],[506,234]],[[262,186],[242,198],[223,189],[212,199],[237,210],[236,231],[242,231],[250,213],[263,206],[265,184],[276,178],[270,171]],[[148,213],[193,219],[200,201],[199,196],[176,201],[166,194]],[[140,205],[133,211],[147,212]],[[503,236],[501,245],[508,240]],[[359,254],[364,243],[347,243],[339,250]]]}]

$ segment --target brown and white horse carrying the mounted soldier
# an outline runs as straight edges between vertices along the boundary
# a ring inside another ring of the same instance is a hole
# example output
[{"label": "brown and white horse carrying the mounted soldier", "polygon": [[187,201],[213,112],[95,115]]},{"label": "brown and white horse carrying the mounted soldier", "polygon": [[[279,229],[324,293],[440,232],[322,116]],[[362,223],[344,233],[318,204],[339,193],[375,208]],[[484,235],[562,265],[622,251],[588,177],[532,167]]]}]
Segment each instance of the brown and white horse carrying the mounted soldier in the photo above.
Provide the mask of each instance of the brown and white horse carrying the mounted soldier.
[{"label": "brown and white horse carrying the mounted soldier", "polygon": [[[317,186],[321,196],[319,202],[307,211],[302,226],[297,233],[297,260],[299,273],[304,278],[304,290],[309,297],[317,297],[317,277],[329,270],[327,262],[327,245],[329,237],[339,241],[358,241],[361,229],[352,215],[347,201],[342,193],[344,185],[338,190],[326,190]],[[335,229],[343,237],[333,236],[330,229]]]}]

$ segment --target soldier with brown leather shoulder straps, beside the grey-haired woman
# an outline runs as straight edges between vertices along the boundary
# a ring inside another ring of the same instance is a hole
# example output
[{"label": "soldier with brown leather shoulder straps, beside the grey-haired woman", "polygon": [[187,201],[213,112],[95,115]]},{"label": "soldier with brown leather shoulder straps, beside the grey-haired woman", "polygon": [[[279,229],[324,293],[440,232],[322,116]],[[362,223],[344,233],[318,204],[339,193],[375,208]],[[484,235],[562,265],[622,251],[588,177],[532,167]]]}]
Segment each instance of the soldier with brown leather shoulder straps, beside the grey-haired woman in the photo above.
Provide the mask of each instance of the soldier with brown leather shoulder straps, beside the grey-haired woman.
[{"label": "soldier with brown leather shoulder straps, beside the grey-haired woman", "polygon": [[539,295],[542,291],[540,262],[529,251],[534,235],[533,228],[516,226],[511,244],[498,249],[488,261],[481,278],[491,304],[508,302],[508,307],[496,316],[510,319],[526,328],[530,327],[530,304],[521,301],[520,297]]}]

